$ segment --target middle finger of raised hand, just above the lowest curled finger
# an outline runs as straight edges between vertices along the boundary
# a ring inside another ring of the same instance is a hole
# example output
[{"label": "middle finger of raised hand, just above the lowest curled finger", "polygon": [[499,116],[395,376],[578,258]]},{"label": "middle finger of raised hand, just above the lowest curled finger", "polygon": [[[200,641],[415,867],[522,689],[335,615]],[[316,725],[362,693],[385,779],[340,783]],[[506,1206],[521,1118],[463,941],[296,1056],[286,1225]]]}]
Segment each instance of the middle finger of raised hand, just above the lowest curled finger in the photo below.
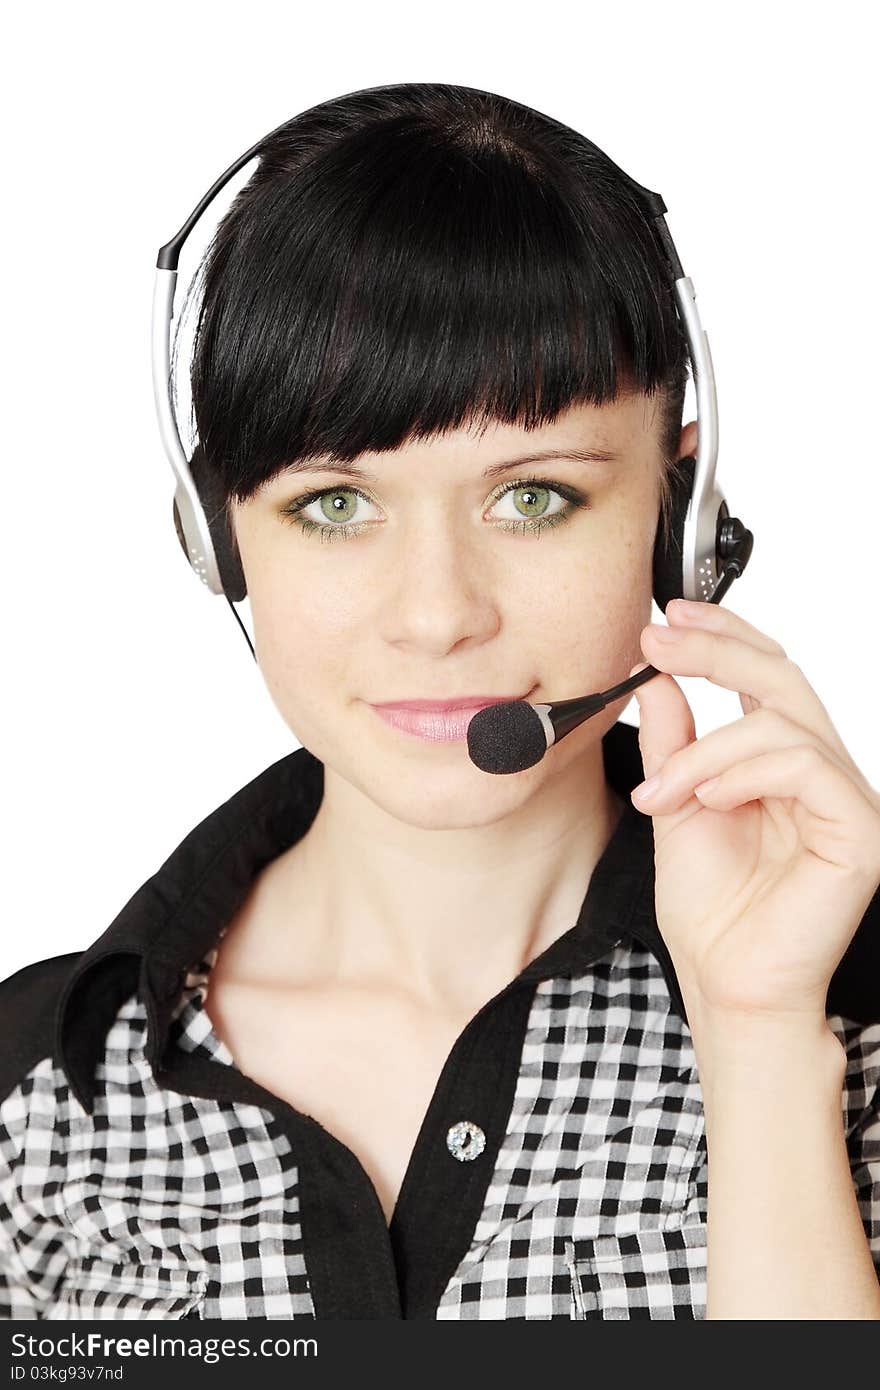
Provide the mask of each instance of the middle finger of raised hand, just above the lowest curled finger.
[{"label": "middle finger of raised hand, just above the lowest curled finger", "polygon": [[651,815],[667,815],[694,795],[698,783],[717,777],[760,753],[779,748],[801,748],[804,744],[824,752],[844,776],[851,776],[834,751],[822,744],[815,734],[805,731],[779,710],[756,709],[742,719],[713,728],[712,733],[673,753],[658,773],[649,798],[641,795],[638,788],[634,788],[631,795],[639,806],[649,803]]}]

